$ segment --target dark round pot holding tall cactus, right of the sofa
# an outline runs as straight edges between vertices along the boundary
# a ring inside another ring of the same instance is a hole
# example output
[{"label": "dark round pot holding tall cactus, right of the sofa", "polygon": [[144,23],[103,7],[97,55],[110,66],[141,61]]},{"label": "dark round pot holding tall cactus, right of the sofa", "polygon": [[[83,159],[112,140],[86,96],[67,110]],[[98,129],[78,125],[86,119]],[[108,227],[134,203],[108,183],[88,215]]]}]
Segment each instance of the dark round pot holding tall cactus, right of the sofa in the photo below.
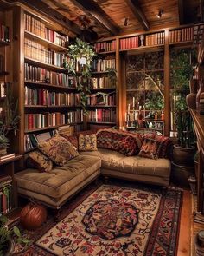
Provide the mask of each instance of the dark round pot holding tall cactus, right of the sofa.
[{"label": "dark round pot holding tall cactus, right of the sofa", "polygon": [[173,147],[173,160],[175,164],[187,167],[194,167],[195,148],[182,148],[178,145]]}]

